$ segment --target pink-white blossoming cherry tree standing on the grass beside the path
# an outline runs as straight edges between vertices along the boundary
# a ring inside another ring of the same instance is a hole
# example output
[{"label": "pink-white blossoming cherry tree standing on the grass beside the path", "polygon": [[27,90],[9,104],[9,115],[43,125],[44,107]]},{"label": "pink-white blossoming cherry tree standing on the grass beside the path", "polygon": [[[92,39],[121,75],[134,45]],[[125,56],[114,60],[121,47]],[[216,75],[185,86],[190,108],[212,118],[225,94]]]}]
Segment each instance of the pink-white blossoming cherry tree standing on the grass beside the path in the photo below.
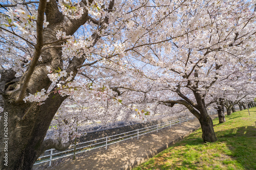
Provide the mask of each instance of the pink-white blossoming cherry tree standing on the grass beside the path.
[{"label": "pink-white blossoming cherry tree standing on the grass beside the path", "polygon": [[[131,61],[134,67],[156,81],[158,89],[154,90],[164,91],[159,103],[186,106],[199,119],[203,140],[212,142],[217,138],[206,109],[211,104],[210,94],[218,92],[221,81],[235,73],[246,70],[250,72],[247,81],[253,81],[255,6],[242,1],[185,4],[177,15],[163,18],[153,35],[145,35],[141,28],[140,38],[130,40],[134,47],[129,55],[135,60]],[[152,43],[156,39],[161,43]],[[145,41],[148,45],[135,48]]]}]

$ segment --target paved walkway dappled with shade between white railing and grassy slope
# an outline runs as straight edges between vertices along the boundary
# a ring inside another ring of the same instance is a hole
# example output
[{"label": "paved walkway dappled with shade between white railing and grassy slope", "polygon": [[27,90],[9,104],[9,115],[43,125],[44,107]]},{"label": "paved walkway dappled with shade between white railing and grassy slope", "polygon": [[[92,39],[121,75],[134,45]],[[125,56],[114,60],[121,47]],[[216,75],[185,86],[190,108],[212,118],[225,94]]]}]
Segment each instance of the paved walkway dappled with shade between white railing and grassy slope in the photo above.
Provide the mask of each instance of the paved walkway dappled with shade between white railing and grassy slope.
[{"label": "paved walkway dappled with shade between white railing and grassy slope", "polygon": [[[218,114],[211,116],[218,117]],[[108,146],[76,155],[76,160],[66,158],[53,161],[51,167],[37,167],[35,169],[131,169],[168,148],[178,140],[194,132],[200,127],[197,119],[184,122],[181,125],[164,128],[157,132],[133,138]]]}]

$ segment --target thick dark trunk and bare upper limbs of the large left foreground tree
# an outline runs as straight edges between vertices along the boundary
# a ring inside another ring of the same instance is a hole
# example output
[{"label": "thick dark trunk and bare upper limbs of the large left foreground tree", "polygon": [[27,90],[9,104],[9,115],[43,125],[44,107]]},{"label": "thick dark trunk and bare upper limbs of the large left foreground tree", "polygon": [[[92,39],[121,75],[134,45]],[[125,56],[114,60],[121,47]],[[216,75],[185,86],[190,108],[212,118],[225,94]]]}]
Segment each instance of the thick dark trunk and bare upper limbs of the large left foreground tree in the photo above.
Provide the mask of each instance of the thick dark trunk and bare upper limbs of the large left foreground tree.
[{"label": "thick dark trunk and bare upper limbs of the large left foreground tree", "polygon": [[[84,7],[87,3],[88,1],[82,0],[80,5]],[[91,4],[92,0],[89,0],[89,3]],[[113,7],[114,1],[111,1],[109,4],[110,11],[112,11]],[[45,15],[47,21],[49,21],[49,25],[43,31],[41,41],[44,43],[56,41],[56,32],[59,30],[66,32],[67,35],[73,35],[77,29],[88,20],[87,10],[84,10],[82,17],[79,19],[70,19],[62,15],[62,13],[59,12],[57,2],[53,0],[47,3]],[[105,19],[104,22],[108,23],[108,19]],[[94,34],[93,38],[96,43],[99,36]],[[40,41],[40,39],[38,41]],[[58,42],[52,45],[58,46],[62,43],[63,42]],[[48,89],[50,87],[52,82],[47,76],[49,72],[46,66],[50,66],[51,69],[54,70],[63,68],[61,50],[61,47],[52,47],[40,53],[42,61],[37,61],[29,83],[25,87],[26,96],[28,96],[29,93],[34,94],[42,88]],[[84,61],[85,59],[83,57],[73,57],[70,60],[66,71],[68,73],[73,72],[73,80],[78,72],[78,66],[82,65]],[[0,106],[4,104],[4,112],[1,113],[2,118],[0,120],[0,169],[31,169],[34,162],[45,148],[63,149],[60,142],[54,142],[52,140],[44,141],[44,138],[53,116],[66,97],[63,98],[58,93],[51,93],[49,98],[44,101],[45,104],[42,105],[37,105],[37,103],[24,103],[23,101],[21,103],[15,103],[14,101],[16,101],[17,96],[20,94],[20,87],[25,84],[24,80],[26,75],[28,75],[28,70],[26,70],[20,80],[15,81],[13,81],[13,78],[5,80],[4,78],[8,78],[8,76],[3,76],[3,73],[2,68],[0,68],[0,100],[3,99],[3,102],[0,101]],[[4,118],[4,115],[8,116]],[[5,132],[6,129],[4,129],[6,122],[8,123],[8,134]],[[6,136],[3,136],[4,133],[6,133]],[[69,143],[65,144],[65,147],[67,147],[68,144]],[[8,155],[8,158],[5,157],[6,155]],[[8,166],[5,165],[7,161]]]}]

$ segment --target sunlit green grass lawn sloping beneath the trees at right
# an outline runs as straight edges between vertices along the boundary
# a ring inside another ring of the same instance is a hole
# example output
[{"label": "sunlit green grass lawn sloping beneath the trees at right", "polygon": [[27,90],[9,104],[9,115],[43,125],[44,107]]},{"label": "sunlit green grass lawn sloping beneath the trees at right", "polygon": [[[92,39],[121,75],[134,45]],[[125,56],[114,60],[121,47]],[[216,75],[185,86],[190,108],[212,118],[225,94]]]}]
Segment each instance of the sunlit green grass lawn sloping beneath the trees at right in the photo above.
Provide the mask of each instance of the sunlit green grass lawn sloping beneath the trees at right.
[{"label": "sunlit green grass lawn sloping beneath the trees at right", "polygon": [[199,129],[138,169],[256,169],[256,108],[213,120],[217,142],[204,143]]}]

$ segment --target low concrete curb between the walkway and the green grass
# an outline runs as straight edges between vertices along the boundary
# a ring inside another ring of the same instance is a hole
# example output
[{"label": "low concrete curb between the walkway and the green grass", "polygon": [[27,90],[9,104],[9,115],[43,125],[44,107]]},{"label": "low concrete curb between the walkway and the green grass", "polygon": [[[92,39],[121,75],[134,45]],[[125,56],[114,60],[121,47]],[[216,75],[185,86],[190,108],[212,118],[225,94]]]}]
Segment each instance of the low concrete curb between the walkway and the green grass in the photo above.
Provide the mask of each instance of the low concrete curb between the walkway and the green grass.
[{"label": "low concrete curb between the walkway and the green grass", "polygon": [[[132,159],[130,160],[130,163],[126,163],[123,167],[120,168],[120,170],[130,170],[136,166],[138,166],[139,164],[141,163],[144,163],[146,162],[148,159],[156,156],[158,153],[162,152],[163,150],[169,148],[171,145],[175,144],[177,141],[183,139],[184,137],[188,136],[189,134],[193,133],[194,131],[198,130],[201,126],[199,125],[198,127],[194,128],[193,130],[190,130],[188,131],[187,133],[185,133],[184,135],[176,138],[175,140],[169,142],[169,143],[166,143],[165,145],[162,145],[162,147],[160,147],[159,149],[151,152],[150,154],[146,154],[144,157],[142,158],[137,158],[136,159]],[[132,162],[132,163],[131,163]]]}]

